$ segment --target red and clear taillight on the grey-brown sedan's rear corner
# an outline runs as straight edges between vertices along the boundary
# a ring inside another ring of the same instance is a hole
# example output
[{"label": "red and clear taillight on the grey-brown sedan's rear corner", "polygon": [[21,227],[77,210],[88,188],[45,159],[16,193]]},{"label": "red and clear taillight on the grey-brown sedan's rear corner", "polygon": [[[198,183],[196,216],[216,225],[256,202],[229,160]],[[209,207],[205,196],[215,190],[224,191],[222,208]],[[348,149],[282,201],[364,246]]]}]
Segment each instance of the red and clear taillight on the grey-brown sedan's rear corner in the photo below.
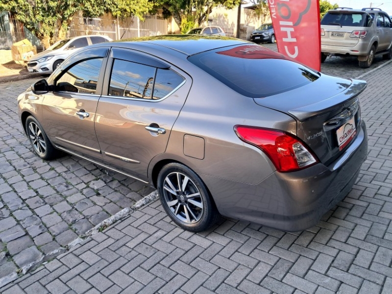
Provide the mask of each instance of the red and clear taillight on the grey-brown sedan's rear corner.
[{"label": "red and clear taillight on the grey-brown sedan's rear corner", "polygon": [[261,149],[278,171],[295,171],[318,162],[304,143],[293,135],[247,126],[235,126],[234,130],[242,141]]}]

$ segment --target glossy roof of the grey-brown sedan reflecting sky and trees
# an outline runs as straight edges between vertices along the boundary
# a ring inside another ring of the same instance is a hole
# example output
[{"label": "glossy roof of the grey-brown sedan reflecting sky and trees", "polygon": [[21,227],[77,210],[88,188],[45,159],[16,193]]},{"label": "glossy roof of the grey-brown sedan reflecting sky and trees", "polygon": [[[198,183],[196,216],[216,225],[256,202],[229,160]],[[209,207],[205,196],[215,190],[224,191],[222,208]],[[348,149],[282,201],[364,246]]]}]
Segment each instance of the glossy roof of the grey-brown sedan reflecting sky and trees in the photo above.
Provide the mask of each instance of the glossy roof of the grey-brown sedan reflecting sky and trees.
[{"label": "glossy roof of the grey-brown sedan reflecting sky and trees", "polygon": [[[129,48],[132,48],[135,43],[137,43],[138,45],[144,45],[146,47],[162,46],[188,56],[213,50],[215,48],[221,48],[237,44],[254,45],[254,43],[235,38],[204,35],[162,35],[114,41],[111,43],[118,43],[121,44],[121,47]],[[108,43],[106,43],[106,45],[107,44]]]}]

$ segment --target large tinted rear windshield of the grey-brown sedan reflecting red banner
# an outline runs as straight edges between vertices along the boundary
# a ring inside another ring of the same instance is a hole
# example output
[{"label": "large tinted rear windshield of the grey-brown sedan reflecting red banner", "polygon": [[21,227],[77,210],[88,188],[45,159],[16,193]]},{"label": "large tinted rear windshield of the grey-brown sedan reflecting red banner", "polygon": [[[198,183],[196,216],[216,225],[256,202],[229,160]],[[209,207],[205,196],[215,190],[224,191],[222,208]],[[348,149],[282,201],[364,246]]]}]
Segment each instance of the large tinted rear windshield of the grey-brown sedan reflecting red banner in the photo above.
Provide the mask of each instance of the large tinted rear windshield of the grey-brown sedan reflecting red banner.
[{"label": "large tinted rear windshield of the grey-brown sedan reflecting red banner", "polygon": [[190,56],[188,60],[236,92],[260,98],[299,88],[320,75],[260,45],[240,45]]}]

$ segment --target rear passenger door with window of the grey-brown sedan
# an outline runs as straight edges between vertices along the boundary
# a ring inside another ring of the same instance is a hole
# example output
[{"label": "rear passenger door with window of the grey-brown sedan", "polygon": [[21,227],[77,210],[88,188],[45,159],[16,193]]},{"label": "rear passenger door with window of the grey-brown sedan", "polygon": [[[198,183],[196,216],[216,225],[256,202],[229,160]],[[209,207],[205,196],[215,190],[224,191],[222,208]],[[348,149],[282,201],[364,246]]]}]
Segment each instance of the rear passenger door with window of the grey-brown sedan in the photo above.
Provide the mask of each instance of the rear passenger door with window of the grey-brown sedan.
[{"label": "rear passenger door with window of the grey-brown sedan", "polygon": [[113,48],[98,103],[95,132],[105,163],[143,181],[164,153],[188,95],[184,72],[146,54]]}]

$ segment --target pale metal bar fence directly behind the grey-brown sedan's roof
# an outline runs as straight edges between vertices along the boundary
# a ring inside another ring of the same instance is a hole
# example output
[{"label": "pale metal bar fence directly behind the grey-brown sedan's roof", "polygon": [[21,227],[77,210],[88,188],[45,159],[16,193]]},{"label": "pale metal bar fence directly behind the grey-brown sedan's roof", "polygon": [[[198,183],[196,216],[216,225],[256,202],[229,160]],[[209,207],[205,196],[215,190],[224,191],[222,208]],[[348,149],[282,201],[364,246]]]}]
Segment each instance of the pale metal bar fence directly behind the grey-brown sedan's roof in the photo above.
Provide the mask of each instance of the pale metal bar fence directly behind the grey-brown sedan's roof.
[{"label": "pale metal bar fence directly behind the grey-brown sedan's roof", "polygon": [[113,40],[167,34],[167,21],[157,15],[144,15],[117,19],[86,18],[75,16],[68,31],[69,37],[106,35]]}]

